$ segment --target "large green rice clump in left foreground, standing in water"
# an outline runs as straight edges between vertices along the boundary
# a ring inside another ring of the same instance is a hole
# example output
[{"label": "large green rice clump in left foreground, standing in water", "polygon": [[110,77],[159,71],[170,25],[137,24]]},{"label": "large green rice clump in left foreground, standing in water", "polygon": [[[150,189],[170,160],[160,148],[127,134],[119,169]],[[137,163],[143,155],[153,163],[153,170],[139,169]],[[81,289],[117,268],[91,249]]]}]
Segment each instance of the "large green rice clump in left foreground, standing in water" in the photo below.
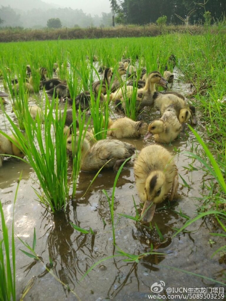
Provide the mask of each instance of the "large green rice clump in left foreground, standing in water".
[{"label": "large green rice clump in left foreground, standing in water", "polygon": [[[43,205],[50,206],[52,212],[62,208],[65,209],[66,200],[69,198],[66,136],[64,135],[66,109],[65,106],[64,112],[61,114],[58,102],[56,102],[56,106],[54,100],[50,104],[46,96],[43,134],[39,115],[37,114],[36,119],[33,120],[28,107],[26,107],[27,123],[24,122],[25,135],[20,132],[5,113],[15,132],[14,136],[17,138],[28,162],[33,167],[42,187],[43,193],[40,194],[35,189],[36,195]],[[3,132],[1,133],[7,136]]]}]

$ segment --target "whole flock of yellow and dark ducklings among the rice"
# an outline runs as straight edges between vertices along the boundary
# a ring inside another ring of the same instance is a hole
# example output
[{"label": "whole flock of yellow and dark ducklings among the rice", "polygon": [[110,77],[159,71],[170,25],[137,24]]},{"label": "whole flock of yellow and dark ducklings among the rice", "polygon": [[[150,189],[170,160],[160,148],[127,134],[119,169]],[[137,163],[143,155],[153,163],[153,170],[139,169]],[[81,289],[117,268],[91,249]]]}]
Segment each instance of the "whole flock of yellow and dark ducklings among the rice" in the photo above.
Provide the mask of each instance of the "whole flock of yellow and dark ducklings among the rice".
[{"label": "whole flock of yellow and dark ducklings among the rice", "polygon": [[[171,56],[169,59],[172,60]],[[57,64],[54,64],[54,71],[57,72]],[[185,123],[191,119],[196,124],[195,108],[189,105],[184,95],[177,92],[166,91],[167,84],[173,85],[173,75],[165,68],[164,76],[158,71],[152,71],[147,74],[146,70],[142,70],[142,78],[137,81],[136,93],[136,110],[144,110],[145,107],[155,107],[160,110],[162,117],[152,121],[149,125],[143,121],[133,121],[128,117],[118,118],[116,120],[109,119],[108,136],[113,138],[137,138],[144,135],[144,140],[153,136],[155,142],[168,144],[174,141],[183,130]],[[40,89],[45,88],[47,94],[60,101],[67,98],[67,103],[73,103],[67,88],[66,82],[60,79],[47,79],[47,70],[39,68],[40,72]],[[127,80],[127,91],[125,91],[124,78],[122,75],[130,74],[130,78],[136,77],[136,67],[130,64],[127,59],[119,62],[117,76],[113,82],[111,81],[112,70],[101,66],[98,70],[103,73],[102,81],[96,81],[92,85],[94,98],[100,97],[100,101],[108,100],[114,102],[115,108],[124,112],[126,93],[130,99],[133,93],[133,80]],[[28,81],[25,83],[26,88],[32,92],[32,75],[30,66],[27,65]],[[167,81],[168,80],[168,81]],[[19,88],[17,80],[13,80],[12,84]],[[156,91],[157,86],[165,88],[164,91]],[[107,90],[111,90],[111,94],[107,95]],[[74,98],[76,108],[88,110],[90,105],[90,93],[85,91]],[[4,92],[0,92],[0,98],[8,96]],[[109,99],[108,99],[109,98]],[[3,101],[3,104],[5,102]],[[13,108],[14,110],[14,108]],[[29,108],[31,116],[35,119],[39,114],[41,118],[41,108],[31,106]],[[42,120],[42,119],[41,119]],[[42,120],[44,122],[44,120]],[[71,154],[76,152],[78,136],[71,135],[71,125],[73,123],[72,110],[67,110],[65,121],[65,135],[67,135],[66,147]],[[78,121],[76,120],[77,127]],[[6,136],[0,134],[0,154],[14,155],[24,157],[13,135]],[[104,139],[96,141],[93,133],[87,131],[81,145],[81,170],[98,171],[100,168],[113,168],[118,170],[121,164],[135,153],[135,146],[122,142],[117,139]],[[74,149],[72,149],[72,145]],[[0,157],[0,166],[2,166],[3,157]],[[138,154],[134,163],[134,176],[136,187],[140,199],[144,202],[141,219],[143,222],[152,220],[155,212],[155,206],[163,202],[169,195],[169,200],[173,200],[178,188],[177,167],[174,163],[172,155],[162,146],[158,144],[148,145],[144,147]]]}]

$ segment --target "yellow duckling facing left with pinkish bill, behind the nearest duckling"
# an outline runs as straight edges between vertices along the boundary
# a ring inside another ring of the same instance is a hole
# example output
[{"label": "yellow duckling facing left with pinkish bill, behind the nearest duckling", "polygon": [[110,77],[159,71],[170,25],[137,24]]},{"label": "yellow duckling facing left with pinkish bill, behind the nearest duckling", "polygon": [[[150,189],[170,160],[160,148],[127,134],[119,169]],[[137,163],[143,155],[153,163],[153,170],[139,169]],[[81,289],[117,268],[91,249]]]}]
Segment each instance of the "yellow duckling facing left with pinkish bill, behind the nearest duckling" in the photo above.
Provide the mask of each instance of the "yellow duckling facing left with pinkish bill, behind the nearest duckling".
[{"label": "yellow duckling facing left with pinkish bill, behind the nearest duckling", "polygon": [[171,107],[163,113],[160,119],[149,124],[144,140],[153,135],[156,142],[168,144],[174,141],[181,131],[182,125],[177,118],[176,110]]}]

